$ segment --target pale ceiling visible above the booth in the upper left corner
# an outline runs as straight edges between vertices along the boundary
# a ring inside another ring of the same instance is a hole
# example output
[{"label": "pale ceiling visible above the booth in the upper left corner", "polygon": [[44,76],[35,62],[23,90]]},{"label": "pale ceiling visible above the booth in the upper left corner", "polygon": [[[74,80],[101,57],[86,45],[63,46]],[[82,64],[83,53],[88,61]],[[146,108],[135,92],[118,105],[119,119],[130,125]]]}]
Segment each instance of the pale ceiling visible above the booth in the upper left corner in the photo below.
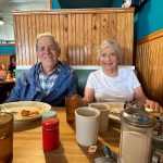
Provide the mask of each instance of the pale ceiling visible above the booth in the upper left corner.
[{"label": "pale ceiling visible above the booth in the upper left corner", "polygon": [[13,11],[43,9],[50,9],[50,0],[0,0],[0,16],[4,18],[4,24],[0,26],[0,39],[14,39]]}]

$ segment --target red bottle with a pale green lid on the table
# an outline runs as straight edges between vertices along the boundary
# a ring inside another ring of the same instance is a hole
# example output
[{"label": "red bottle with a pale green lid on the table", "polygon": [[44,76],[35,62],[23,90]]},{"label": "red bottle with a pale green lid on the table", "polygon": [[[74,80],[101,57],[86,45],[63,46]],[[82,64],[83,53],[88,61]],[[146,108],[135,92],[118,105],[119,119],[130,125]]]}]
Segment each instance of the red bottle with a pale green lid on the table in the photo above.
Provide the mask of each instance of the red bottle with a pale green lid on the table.
[{"label": "red bottle with a pale green lid on the table", "polygon": [[42,148],[52,151],[60,145],[59,118],[57,112],[47,111],[42,114]]}]

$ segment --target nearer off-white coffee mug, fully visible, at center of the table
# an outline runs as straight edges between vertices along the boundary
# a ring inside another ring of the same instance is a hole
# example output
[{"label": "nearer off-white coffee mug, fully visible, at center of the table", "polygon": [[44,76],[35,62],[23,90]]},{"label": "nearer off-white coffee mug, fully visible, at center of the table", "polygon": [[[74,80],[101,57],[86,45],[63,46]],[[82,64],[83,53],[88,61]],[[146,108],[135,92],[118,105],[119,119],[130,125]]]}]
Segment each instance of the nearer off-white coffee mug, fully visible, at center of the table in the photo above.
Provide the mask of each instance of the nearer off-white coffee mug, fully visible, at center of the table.
[{"label": "nearer off-white coffee mug, fully visible, at center of the table", "polygon": [[75,110],[76,139],[82,146],[92,146],[98,140],[100,111],[95,108],[82,106]]}]

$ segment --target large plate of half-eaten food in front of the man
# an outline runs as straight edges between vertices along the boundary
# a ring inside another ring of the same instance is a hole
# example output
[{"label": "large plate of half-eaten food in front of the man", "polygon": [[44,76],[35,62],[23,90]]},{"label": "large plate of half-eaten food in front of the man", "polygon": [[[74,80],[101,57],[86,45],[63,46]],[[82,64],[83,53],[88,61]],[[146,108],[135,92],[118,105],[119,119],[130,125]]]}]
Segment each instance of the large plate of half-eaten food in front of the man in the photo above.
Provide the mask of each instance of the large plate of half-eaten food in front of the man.
[{"label": "large plate of half-eaten food in front of the man", "polygon": [[41,114],[51,110],[51,105],[37,101],[20,101],[0,104],[1,112],[13,114],[14,122],[28,122],[40,118]]}]

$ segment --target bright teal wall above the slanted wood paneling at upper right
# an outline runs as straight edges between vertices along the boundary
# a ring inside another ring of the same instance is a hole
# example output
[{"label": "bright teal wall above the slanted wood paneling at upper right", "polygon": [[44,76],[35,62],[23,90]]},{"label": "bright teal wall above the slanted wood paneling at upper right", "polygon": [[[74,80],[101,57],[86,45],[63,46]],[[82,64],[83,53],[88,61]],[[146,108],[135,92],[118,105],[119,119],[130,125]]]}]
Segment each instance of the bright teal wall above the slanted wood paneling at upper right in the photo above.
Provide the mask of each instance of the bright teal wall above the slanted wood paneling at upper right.
[{"label": "bright teal wall above the slanted wood paneling at upper right", "polygon": [[163,28],[163,0],[148,0],[135,16],[135,40]]}]

